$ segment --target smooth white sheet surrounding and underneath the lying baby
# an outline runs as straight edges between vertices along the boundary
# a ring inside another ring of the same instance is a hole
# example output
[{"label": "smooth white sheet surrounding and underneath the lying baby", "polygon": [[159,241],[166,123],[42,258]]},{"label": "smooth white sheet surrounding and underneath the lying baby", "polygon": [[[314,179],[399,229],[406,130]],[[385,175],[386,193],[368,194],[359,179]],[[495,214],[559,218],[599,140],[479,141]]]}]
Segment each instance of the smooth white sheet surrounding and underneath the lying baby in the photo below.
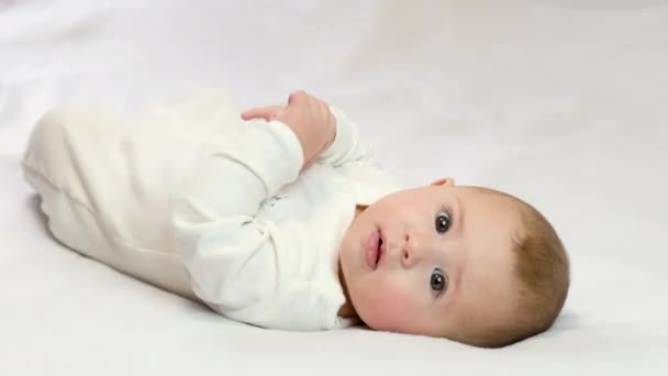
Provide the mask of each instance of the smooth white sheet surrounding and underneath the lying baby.
[{"label": "smooth white sheet surrounding and underneath the lying baby", "polygon": [[[0,1],[0,374],[666,374],[667,24],[660,0]],[[56,244],[18,165],[35,119],[200,87],[304,88],[410,183],[533,202],[570,250],[564,316],[502,350],[267,331]]]}]

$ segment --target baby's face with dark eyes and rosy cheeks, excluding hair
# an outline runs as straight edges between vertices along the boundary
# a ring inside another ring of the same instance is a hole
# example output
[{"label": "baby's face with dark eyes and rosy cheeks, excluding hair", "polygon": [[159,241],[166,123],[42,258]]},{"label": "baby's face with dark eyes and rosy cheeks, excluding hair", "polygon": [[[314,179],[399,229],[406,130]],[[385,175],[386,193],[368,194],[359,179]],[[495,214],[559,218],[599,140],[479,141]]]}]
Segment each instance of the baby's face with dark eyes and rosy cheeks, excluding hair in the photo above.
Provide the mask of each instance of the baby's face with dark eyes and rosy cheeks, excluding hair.
[{"label": "baby's face with dark eyes and rosy cheeks, excluding hair", "polygon": [[376,330],[446,338],[508,318],[519,223],[509,200],[470,187],[388,195],[357,217],[342,243],[357,314]]}]

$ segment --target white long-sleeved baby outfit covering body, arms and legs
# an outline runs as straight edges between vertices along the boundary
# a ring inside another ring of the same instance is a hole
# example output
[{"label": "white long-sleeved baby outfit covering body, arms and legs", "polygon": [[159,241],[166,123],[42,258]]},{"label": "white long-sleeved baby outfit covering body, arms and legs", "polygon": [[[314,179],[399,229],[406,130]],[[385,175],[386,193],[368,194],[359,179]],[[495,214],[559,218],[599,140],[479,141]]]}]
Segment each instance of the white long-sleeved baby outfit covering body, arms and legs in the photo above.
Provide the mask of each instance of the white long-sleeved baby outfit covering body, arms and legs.
[{"label": "white long-sleeved baby outfit covering body, arms and legs", "polygon": [[292,131],[242,121],[220,91],[135,122],[51,112],[23,167],[52,233],[79,253],[242,322],[342,328],[338,246],[356,204],[398,185],[332,111],[336,139],[301,174]]}]

